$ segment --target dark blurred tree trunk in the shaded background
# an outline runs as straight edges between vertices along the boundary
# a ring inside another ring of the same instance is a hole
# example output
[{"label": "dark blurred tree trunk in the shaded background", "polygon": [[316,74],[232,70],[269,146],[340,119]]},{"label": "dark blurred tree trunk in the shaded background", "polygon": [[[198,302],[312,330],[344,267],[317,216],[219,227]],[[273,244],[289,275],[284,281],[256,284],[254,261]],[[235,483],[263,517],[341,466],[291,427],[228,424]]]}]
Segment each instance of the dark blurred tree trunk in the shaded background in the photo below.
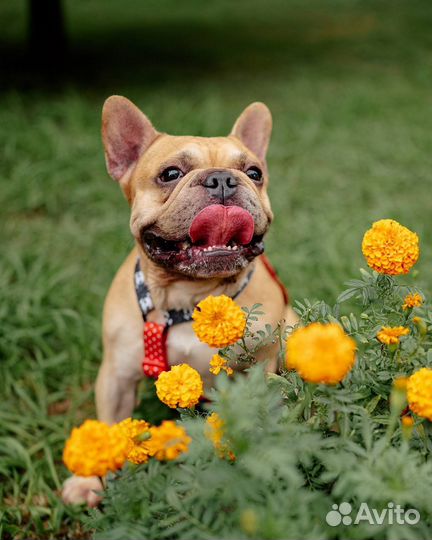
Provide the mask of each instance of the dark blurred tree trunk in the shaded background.
[{"label": "dark blurred tree trunk in the shaded background", "polygon": [[28,0],[29,52],[32,60],[55,67],[66,54],[62,0]]}]

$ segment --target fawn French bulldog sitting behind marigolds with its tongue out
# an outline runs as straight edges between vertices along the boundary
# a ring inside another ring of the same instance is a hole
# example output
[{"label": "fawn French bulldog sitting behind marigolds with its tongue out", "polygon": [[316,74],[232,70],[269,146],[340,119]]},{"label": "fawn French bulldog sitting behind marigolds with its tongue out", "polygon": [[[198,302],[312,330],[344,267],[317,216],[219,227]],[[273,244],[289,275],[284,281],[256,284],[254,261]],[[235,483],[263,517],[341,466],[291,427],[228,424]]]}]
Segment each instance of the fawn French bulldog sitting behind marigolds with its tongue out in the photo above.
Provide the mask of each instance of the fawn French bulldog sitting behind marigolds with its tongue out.
[{"label": "fawn French bulldog sitting behind marigolds with its tongue out", "polygon": [[[153,309],[147,321],[163,324],[168,310],[193,310],[209,295],[236,297],[240,306],[262,304],[256,329],[297,317],[262,257],[273,214],[267,195],[266,152],[272,117],[252,103],[227,137],[172,136],[158,132],[128,99],[108,98],[102,113],[107,169],[130,205],[135,247],[117,272],[103,313],[103,361],[96,382],[98,418],[108,424],[131,415],[144,377],[143,316],[134,271],[139,257]],[[246,285],[245,285],[246,283]],[[187,362],[212,385],[209,362],[217,352],[194,335],[191,322],[172,326],[169,365]],[[277,368],[277,344],[257,360]],[[236,366],[232,366],[236,369]],[[69,478],[66,502],[98,503],[100,481]]]}]

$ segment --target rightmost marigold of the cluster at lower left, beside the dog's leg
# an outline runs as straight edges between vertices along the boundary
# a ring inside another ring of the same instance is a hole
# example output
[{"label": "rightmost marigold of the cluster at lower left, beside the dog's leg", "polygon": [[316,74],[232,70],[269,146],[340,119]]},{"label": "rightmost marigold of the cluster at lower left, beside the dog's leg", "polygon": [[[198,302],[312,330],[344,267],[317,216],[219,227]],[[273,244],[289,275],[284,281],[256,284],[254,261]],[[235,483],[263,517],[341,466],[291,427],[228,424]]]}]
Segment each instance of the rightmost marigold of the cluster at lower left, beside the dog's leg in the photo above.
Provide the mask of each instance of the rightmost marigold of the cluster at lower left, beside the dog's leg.
[{"label": "rightmost marigold of the cluster at lower left, beside the dog's leg", "polygon": [[145,442],[150,456],[159,461],[171,461],[189,450],[192,439],[186,430],[173,420],[164,420],[150,428],[150,439]]}]

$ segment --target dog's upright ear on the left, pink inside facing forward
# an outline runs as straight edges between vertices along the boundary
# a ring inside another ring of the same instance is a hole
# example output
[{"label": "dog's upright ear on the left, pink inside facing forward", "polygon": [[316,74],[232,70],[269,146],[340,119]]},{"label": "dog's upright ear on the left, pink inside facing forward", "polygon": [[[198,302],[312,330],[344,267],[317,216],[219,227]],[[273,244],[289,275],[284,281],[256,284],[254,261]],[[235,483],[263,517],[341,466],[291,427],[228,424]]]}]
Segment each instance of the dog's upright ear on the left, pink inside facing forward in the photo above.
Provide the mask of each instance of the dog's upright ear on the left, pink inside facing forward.
[{"label": "dog's upright ear on the left, pink inside facing forward", "polygon": [[105,101],[102,140],[107,169],[114,180],[127,179],[125,175],[157,135],[147,116],[125,97],[111,96]]}]

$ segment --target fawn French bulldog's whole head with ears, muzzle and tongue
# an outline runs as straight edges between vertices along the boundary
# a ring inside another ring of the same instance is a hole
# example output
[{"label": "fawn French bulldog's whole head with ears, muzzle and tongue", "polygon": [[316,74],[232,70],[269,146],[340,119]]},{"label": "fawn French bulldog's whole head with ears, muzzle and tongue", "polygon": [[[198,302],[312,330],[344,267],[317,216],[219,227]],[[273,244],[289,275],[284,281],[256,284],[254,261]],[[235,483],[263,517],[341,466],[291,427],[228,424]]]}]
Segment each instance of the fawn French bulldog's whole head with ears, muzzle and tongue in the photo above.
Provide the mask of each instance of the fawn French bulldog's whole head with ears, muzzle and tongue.
[{"label": "fawn French bulldog's whole head with ears, muzzle and tongue", "polygon": [[154,263],[192,278],[229,277],[263,252],[272,220],[265,162],[271,125],[268,108],[253,103],[228,137],[176,137],[158,133],[126,98],[107,99],[108,171]]}]

